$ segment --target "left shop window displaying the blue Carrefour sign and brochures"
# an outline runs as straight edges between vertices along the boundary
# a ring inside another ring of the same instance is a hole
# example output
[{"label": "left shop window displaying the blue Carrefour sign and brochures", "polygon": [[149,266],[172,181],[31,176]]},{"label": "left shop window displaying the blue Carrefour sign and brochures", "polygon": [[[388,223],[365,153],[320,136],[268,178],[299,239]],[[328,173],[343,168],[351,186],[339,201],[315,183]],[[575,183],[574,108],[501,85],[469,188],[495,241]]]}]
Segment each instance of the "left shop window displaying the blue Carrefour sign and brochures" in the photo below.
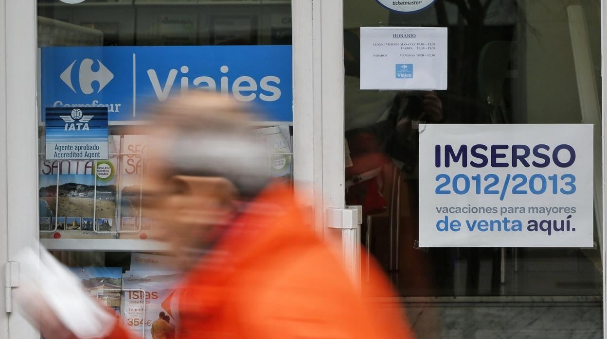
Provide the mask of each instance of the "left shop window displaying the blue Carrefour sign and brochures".
[{"label": "left shop window displaying the blue Carrefour sign and brochures", "polygon": [[[149,139],[131,127],[148,124],[172,96],[224,93],[261,113],[254,125],[268,171],[289,183],[291,1],[39,0],[38,47],[42,244],[127,328],[151,338],[149,320],[170,303],[179,277],[168,247],[148,239]],[[107,123],[93,124],[98,118]],[[89,129],[101,148],[83,148],[82,139],[49,146],[65,141],[64,132]],[[127,310],[140,290],[157,291],[158,303]]]}]

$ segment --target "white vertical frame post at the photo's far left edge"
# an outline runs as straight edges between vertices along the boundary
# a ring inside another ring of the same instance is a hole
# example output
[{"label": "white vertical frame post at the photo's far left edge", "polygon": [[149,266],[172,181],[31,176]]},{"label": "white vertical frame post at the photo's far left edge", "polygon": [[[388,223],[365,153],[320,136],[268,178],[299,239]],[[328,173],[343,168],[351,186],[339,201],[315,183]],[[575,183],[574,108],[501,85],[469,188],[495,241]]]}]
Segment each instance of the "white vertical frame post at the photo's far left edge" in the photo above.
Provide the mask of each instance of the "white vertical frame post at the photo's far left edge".
[{"label": "white vertical frame post at the photo's far left edge", "polygon": [[[38,250],[36,2],[1,0],[0,20],[0,276],[5,281],[5,261],[16,261],[25,247]],[[5,297],[12,294],[2,290]],[[24,317],[4,308],[3,337],[39,337]]]}]

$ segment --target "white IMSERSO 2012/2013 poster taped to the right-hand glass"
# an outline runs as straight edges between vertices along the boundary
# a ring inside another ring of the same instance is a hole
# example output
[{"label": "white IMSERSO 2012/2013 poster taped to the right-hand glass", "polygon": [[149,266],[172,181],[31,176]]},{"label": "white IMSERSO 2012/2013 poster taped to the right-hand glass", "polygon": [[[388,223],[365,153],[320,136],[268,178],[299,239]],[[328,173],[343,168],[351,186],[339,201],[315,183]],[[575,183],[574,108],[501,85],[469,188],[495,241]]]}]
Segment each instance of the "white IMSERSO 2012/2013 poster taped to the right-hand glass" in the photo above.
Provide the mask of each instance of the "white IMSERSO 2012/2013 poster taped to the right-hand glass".
[{"label": "white IMSERSO 2012/2013 poster taped to the right-hand glass", "polygon": [[592,247],[591,124],[419,126],[420,247]]}]

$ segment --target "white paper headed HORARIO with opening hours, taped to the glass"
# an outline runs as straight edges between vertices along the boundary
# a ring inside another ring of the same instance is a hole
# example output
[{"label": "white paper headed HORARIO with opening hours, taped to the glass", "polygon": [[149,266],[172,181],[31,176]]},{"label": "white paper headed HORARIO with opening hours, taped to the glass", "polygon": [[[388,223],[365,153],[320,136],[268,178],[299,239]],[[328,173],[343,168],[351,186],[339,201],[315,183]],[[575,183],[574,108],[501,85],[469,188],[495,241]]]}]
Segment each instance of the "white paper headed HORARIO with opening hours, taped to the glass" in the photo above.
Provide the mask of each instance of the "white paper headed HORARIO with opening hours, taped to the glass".
[{"label": "white paper headed HORARIO with opening hours, taped to the glass", "polygon": [[361,89],[446,90],[446,27],[361,27]]}]

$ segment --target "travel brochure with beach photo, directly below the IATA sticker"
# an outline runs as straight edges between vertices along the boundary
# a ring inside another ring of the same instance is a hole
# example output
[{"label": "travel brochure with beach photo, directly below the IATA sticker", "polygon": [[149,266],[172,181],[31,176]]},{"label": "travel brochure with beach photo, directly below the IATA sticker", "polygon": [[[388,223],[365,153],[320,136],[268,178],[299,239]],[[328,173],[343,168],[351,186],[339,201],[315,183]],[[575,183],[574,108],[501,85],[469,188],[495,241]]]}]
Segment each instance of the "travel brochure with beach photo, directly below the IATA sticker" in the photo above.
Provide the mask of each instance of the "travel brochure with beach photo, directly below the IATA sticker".
[{"label": "travel brochure with beach photo, directly below the IATA sticker", "polygon": [[[116,237],[118,156],[120,136],[109,138],[107,160],[46,160],[39,173],[41,238]],[[111,154],[114,153],[114,154]]]}]

